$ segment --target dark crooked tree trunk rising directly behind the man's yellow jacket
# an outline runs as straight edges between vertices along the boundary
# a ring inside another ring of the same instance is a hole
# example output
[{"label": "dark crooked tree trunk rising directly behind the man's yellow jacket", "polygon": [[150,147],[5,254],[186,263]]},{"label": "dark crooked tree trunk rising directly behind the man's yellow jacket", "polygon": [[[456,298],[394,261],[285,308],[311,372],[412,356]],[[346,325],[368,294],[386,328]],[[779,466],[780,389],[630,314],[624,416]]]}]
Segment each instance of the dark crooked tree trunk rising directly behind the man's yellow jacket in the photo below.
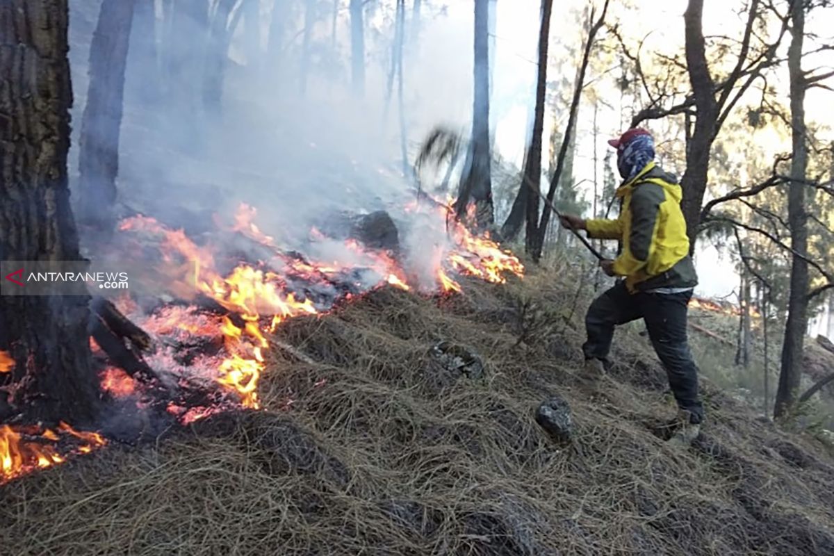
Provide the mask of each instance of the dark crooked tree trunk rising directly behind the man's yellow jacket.
[{"label": "dark crooked tree trunk rising directly behind the man's yellow jacket", "polygon": [[686,69],[692,93],[695,95],[695,129],[686,152],[686,172],[681,178],[683,199],[681,209],[686,218],[691,252],[695,251],[695,238],[701,221],[701,204],[706,192],[706,178],[710,163],[712,140],[715,138],[718,106],[715,83],[706,63],[706,46],[703,32],[704,0],[690,0],[684,13],[686,41]]}]

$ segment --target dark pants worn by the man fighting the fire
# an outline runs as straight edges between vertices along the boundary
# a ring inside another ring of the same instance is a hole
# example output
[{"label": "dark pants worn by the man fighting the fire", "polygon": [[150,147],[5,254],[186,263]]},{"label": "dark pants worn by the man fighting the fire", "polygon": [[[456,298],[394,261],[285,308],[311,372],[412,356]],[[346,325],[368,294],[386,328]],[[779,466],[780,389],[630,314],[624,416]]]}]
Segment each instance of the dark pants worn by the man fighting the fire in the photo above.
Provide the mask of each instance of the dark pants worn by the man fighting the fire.
[{"label": "dark pants worn by the man fighting the fire", "polygon": [[651,345],[661,359],[678,407],[691,412],[692,423],[701,423],[704,408],[698,398],[698,368],[686,343],[686,308],[692,292],[635,293],[618,282],[590,304],[585,316],[588,339],[585,358],[608,364],[614,327],[643,318]]}]

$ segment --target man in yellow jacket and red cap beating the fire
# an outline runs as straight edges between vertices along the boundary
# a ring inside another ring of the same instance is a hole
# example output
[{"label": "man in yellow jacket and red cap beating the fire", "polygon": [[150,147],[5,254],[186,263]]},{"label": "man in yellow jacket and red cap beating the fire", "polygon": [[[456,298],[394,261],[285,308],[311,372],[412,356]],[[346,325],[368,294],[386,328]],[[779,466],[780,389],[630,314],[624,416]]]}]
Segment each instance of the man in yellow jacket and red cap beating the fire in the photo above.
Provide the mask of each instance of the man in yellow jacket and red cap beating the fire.
[{"label": "man in yellow jacket and red cap beating the fire", "polygon": [[608,143],[617,149],[624,180],[616,191],[619,218],[560,218],[565,228],[584,229],[590,238],[617,239],[621,245],[617,258],[600,263],[606,274],[620,279],[591,303],[585,317],[586,372],[595,377],[605,373],[615,326],[643,318],[680,408],[671,441],[688,444],[699,433],[704,408],[686,340],[686,309],[698,278],[681,212],[681,186],[656,165],[654,140],[645,129],[630,129]]}]

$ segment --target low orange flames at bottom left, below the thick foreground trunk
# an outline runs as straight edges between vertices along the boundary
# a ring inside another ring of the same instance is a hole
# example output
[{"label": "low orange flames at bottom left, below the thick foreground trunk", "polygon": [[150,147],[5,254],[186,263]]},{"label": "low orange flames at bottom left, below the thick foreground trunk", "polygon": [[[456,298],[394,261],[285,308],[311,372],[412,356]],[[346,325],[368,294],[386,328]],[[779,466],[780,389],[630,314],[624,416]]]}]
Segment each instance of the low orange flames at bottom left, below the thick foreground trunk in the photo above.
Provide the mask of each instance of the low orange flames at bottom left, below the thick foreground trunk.
[{"label": "low orange flames at bottom left, below the thick foreground trunk", "polygon": [[[78,432],[67,423],[59,423],[58,431],[81,441],[69,453],[90,453],[106,441],[98,433]],[[34,469],[48,468],[63,463],[66,458],[57,448],[44,441],[58,442],[61,435],[46,428],[0,425],[0,483],[29,473]]]}]

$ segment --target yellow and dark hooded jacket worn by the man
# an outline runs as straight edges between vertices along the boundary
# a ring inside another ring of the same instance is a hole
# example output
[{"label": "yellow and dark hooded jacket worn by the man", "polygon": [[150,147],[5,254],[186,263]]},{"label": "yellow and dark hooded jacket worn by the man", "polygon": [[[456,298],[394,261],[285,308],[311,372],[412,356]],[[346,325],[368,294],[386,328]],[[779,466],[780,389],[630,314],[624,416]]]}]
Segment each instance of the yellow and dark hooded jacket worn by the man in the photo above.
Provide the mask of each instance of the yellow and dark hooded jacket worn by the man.
[{"label": "yellow and dark hooded jacket worn by the man", "polygon": [[592,219],[585,225],[590,238],[622,242],[614,273],[625,277],[629,291],[694,287],[698,277],[676,178],[651,162],[623,183],[616,197],[621,199],[619,218]]}]

